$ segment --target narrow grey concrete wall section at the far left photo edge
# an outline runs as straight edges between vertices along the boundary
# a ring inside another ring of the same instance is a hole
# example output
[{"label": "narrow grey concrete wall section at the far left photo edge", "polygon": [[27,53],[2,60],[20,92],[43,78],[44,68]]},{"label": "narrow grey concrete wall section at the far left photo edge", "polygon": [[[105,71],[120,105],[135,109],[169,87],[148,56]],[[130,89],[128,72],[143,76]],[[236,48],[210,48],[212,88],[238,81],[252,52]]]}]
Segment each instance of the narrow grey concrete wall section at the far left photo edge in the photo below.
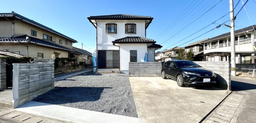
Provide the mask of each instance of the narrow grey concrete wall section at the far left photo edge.
[{"label": "narrow grey concrete wall section at the far left photo edge", "polygon": [[6,59],[0,59],[0,90],[6,88]]}]

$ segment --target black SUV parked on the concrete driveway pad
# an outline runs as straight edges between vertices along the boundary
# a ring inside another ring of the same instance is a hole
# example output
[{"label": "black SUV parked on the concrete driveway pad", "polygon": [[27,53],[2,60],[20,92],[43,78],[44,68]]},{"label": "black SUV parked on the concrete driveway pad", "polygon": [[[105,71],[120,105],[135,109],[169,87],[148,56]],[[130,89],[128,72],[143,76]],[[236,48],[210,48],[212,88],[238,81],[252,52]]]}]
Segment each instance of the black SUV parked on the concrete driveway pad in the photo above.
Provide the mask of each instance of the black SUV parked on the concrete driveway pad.
[{"label": "black SUV parked on the concrete driveway pad", "polygon": [[177,81],[178,86],[216,84],[216,75],[195,62],[187,60],[167,61],[162,65],[162,78]]}]

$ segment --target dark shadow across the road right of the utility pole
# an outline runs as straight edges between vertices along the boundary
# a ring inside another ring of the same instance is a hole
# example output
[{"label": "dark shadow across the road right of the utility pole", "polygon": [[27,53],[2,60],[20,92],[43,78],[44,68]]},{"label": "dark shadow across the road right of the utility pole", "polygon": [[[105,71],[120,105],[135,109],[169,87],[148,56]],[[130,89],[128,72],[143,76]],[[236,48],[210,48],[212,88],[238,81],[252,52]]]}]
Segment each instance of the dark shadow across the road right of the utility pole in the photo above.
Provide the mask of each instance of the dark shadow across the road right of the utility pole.
[{"label": "dark shadow across the road right of the utility pole", "polygon": [[256,89],[256,83],[245,83],[240,81],[231,81],[231,90],[253,90]]}]

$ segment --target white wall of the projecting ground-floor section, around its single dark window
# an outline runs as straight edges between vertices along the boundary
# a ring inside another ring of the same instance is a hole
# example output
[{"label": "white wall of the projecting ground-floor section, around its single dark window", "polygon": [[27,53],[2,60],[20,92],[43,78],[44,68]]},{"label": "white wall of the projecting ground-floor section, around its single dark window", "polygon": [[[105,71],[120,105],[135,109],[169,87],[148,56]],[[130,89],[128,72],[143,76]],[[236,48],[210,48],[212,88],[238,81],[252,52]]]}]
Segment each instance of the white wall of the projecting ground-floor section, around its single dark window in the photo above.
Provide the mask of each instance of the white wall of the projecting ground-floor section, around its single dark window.
[{"label": "white wall of the projecting ground-floor section, around its single dark window", "polygon": [[137,50],[137,62],[144,62],[147,44],[120,44],[120,70],[124,73],[129,70],[130,50]]}]

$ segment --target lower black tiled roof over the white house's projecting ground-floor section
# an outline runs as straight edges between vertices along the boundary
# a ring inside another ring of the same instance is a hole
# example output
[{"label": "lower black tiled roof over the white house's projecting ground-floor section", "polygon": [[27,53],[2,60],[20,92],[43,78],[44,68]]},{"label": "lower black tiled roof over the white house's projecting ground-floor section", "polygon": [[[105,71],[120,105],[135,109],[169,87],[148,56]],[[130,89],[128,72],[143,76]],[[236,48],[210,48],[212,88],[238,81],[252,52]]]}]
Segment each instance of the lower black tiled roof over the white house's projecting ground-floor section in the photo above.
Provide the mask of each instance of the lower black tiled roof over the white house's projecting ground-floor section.
[{"label": "lower black tiled roof over the white house's projecting ground-floor section", "polygon": [[112,43],[155,43],[155,41],[144,37],[124,37],[114,40]]}]

